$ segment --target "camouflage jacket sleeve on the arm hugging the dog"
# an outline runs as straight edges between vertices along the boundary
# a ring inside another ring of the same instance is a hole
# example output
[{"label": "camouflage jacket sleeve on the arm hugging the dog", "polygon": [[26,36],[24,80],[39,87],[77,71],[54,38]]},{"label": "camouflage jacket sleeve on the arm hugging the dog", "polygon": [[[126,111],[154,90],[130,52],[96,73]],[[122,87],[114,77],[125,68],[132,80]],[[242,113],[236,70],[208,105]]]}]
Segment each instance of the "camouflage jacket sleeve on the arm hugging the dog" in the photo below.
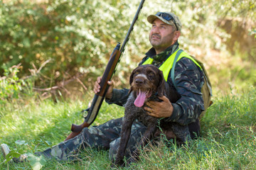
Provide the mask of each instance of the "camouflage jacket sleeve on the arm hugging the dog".
[{"label": "camouflage jacket sleeve on the arm hugging the dog", "polygon": [[174,111],[166,121],[188,125],[195,122],[204,111],[201,94],[204,84],[203,73],[192,60],[183,57],[176,63],[175,81],[181,98],[176,103],[172,103]]}]

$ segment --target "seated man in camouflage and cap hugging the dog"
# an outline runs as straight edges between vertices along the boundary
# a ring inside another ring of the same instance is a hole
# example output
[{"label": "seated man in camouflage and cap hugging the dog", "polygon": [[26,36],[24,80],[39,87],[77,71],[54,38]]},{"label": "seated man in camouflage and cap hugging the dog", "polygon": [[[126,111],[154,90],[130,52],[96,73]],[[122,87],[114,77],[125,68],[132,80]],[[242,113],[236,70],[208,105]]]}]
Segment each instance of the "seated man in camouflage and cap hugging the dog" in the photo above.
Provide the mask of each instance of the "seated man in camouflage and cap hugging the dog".
[{"label": "seated man in camouflage and cap hugging the dog", "polygon": [[[178,38],[181,35],[181,22],[174,13],[156,13],[150,15],[147,20],[152,24],[149,33],[149,41],[152,48],[146,52],[146,57],[139,64],[154,64],[156,67],[166,65],[169,58],[173,57],[179,47]],[[166,67],[169,70],[166,72]],[[170,64],[164,67],[166,81],[170,86],[174,86],[171,80]],[[156,118],[164,118],[169,122],[188,125],[193,139],[199,134],[200,125],[198,117],[204,111],[203,98],[201,88],[203,86],[203,72],[198,65],[188,57],[181,57],[176,62],[175,68],[176,90],[181,94],[181,98],[176,103],[170,103],[165,96],[159,97],[163,102],[152,101],[146,103],[149,107],[144,107],[144,110],[149,115]],[[94,86],[94,92],[100,91],[100,77],[97,78]],[[109,81],[110,88],[106,94],[107,103],[115,103],[119,106],[124,106],[128,98],[129,89],[114,89],[113,82]],[[120,132],[122,129],[122,119],[118,118],[110,120],[105,124],[84,128],[80,135],[73,139],[54,147],[48,148],[43,152],[36,152],[37,155],[43,155],[46,158],[55,157],[60,160],[73,159],[75,154],[78,154],[80,149],[86,147],[94,147],[100,149],[110,149],[110,159],[114,159],[119,146]],[[135,121],[132,125],[132,136],[127,145],[126,157],[133,152],[139,142],[141,135],[146,130],[146,127]]]}]

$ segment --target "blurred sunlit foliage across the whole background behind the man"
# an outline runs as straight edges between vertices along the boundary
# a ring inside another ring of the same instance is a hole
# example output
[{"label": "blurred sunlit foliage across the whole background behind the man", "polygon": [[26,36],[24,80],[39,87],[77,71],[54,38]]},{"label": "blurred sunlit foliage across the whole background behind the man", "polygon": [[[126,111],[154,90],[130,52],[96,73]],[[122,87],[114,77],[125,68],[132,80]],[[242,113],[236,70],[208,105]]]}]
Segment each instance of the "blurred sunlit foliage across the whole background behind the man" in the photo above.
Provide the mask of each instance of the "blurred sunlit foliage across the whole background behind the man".
[{"label": "blurred sunlit foliage across the whole background behind the man", "polygon": [[[0,64],[11,67],[21,63],[23,69],[18,77],[22,77],[50,59],[35,79],[39,87],[54,86],[77,73],[83,74],[84,83],[91,86],[102,75],[114,46],[124,40],[139,5],[139,1],[112,0],[0,3]],[[244,69],[246,77],[255,72],[256,41],[248,37],[249,30],[250,36],[255,34],[252,28],[256,10],[252,0],[145,1],[114,77],[117,84],[127,87],[131,70],[151,47],[151,26],[146,17],[170,10],[183,23],[181,47],[206,63],[214,88],[225,91],[229,82],[234,82],[230,74],[238,75],[236,86],[246,88],[239,84],[245,78],[233,68]],[[242,58],[242,62],[233,62],[234,56]],[[248,66],[247,62],[252,64]],[[230,74],[218,74],[222,72]],[[4,74],[2,67],[0,74]],[[223,81],[218,81],[220,77]],[[246,81],[255,84],[254,78]]]}]

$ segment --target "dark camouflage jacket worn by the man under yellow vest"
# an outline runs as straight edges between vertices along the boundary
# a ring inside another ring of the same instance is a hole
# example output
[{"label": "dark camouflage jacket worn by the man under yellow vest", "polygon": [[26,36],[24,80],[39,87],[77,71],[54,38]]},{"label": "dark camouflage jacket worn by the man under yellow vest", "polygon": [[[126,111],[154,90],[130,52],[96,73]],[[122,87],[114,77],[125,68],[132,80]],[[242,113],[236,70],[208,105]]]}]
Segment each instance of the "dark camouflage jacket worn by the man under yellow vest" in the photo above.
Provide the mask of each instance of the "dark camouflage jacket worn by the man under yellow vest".
[{"label": "dark camouflage jacket worn by the man under yellow vest", "polygon": [[[156,55],[154,48],[152,47],[146,52],[146,57],[142,59],[142,64],[149,57],[154,59],[156,67],[160,67],[161,64],[176,50],[178,49],[178,42],[171,47],[167,48],[164,52]],[[181,98],[172,103],[174,111],[169,118],[165,118],[166,121],[180,123],[181,125],[188,125],[193,123],[199,117],[202,111],[204,111],[203,97],[201,94],[201,88],[203,86],[203,73],[201,69],[194,64],[194,62],[186,57],[181,58],[176,62],[174,77],[177,85],[178,94],[181,94]],[[171,72],[167,80],[170,86],[174,86],[171,81]],[[115,103],[119,106],[124,106],[129,96],[129,89],[114,89],[111,99],[106,99],[107,103]]]}]

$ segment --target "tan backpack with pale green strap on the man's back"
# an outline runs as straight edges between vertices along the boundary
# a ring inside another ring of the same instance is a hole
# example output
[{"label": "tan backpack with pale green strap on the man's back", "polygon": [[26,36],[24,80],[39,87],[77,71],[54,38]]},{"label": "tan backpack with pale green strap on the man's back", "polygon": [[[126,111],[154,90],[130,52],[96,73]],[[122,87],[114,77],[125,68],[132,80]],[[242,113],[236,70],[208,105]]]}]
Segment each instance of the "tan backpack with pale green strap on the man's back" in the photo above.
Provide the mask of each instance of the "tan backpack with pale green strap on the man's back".
[{"label": "tan backpack with pale green strap on the man's back", "polygon": [[[176,88],[176,82],[174,81],[174,69],[175,69],[176,62],[178,60],[178,56],[181,54],[181,52],[183,52],[183,50],[178,50],[178,52],[176,53],[176,56],[174,59],[174,64],[171,69],[171,80],[173,81],[175,88]],[[201,113],[201,115],[199,116],[199,120],[201,120],[203,115],[206,113],[207,108],[213,104],[213,101],[210,100],[211,96],[213,96],[213,92],[212,92],[212,86],[210,84],[210,79],[206,72],[206,68],[203,66],[203,63],[201,61],[199,61],[198,59],[196,59],[196,57],[193,57],[193,56],[191,56],[191,57],[193,58],[193,60],[196,60],[196,62],[198,62],[198,64],[201,66],[201,69],[203,71],[203,78],[205,81],[205,83],[203,84],[202,89],[201,89],[201,93],[203,94],[203,105],[205,108],[205,111],[203,111]]]}]

